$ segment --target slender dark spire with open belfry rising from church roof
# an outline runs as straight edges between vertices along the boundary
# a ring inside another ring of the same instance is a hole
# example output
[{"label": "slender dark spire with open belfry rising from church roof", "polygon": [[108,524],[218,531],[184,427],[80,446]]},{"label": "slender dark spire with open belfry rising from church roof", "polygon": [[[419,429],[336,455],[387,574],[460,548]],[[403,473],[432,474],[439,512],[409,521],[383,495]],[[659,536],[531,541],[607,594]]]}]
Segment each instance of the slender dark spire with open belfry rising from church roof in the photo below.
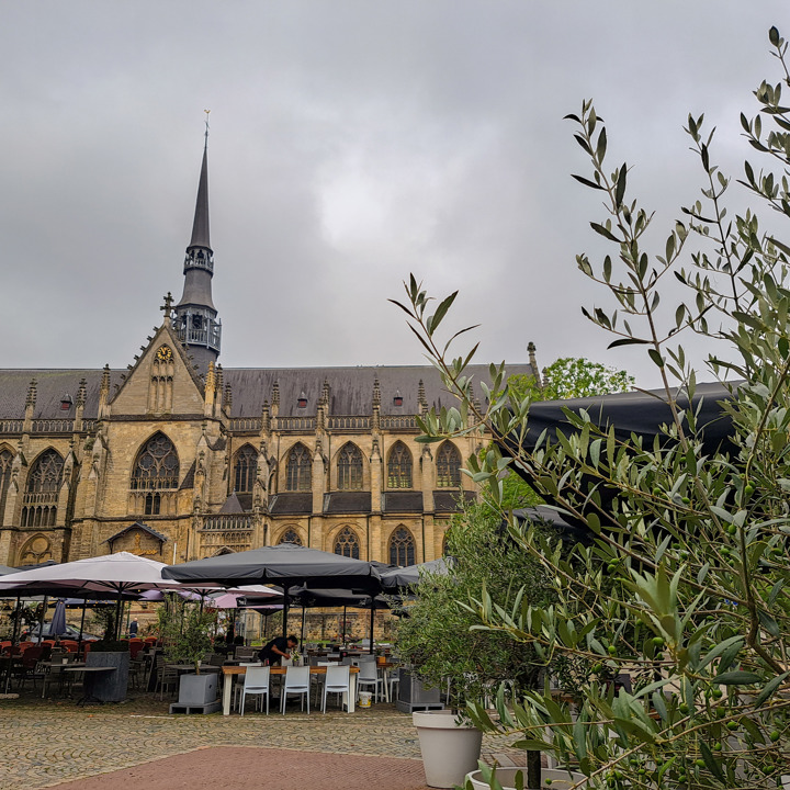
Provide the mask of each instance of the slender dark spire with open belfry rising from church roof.
[{"label": "slender dark spire with open belfry rising from church roof", "polygon": [[176,305],[173,327],[187,345],[199,369],[205,372],[208,362],[219,356],[222,321],[212,300],[211,281],[214,276],[214,252],[208,233],[208,111],[206,110],[205,143],[198,200],[195,202],[192,238],[184,258],[184,289]]}]

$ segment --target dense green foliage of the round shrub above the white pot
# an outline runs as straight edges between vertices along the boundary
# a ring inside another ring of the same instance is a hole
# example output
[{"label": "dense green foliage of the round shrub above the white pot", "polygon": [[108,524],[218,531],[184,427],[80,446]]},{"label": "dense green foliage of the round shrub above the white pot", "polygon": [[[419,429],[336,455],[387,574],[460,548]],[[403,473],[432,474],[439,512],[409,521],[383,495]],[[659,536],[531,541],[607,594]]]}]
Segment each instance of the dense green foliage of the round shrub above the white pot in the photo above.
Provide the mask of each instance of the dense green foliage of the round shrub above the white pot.
[{"label": "dense green foliage of the round shrub above the white pot", "polygon": [[501,518],[485,505],[469,505],[454,517],[448,552],[454,561],[449,574],[424,574],[416,586],[416,602],[397,627],[398,653],[432,685],[443,688],[450,678],[456,703],[490,692],[492,681],[534,686],[545,662],[507,634],[473,630],[477,618],[469,602],[483,587],[497,600],[515,602],[526,586],[530,602],[545,606],[544,572],[514,551]]}]

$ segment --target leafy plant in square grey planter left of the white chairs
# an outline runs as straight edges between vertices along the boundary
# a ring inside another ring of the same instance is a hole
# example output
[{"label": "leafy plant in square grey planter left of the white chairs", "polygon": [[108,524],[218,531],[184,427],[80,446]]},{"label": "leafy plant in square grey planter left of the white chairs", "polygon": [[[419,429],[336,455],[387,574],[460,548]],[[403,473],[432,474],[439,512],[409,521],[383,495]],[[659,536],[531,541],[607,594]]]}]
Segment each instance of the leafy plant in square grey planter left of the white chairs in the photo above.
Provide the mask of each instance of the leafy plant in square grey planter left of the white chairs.
[{"label": "leafy plant in square grey planter left of the white chairs", "polygon": [[212,647],[215,624],[215,612],[195,605],[170,602],[160,610],[159,632],[165,659],[169,664],[191,664],[194,667],[194,674],[187,673],[180,678],[180,707],[200,708],[216,701],[216,673],[201,673],[201,662]]}]

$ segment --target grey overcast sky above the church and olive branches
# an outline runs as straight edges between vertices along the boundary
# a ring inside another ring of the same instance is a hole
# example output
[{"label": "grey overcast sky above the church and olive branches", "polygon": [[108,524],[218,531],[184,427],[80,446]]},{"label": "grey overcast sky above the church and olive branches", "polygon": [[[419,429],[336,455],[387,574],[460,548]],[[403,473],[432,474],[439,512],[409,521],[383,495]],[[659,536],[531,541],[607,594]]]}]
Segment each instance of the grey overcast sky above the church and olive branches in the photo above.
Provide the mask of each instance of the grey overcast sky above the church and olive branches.
[{"label": "grey overcast sky above the church and olive branches", "polygon": [[[656,210],[697,198],[681,131],[779,80],[779,0],[0,1],[0,296],[7,368],[123,368],[182,289],[208,142],[226,366],[414,364],[387,303],[460,289],[479,361],[650,364],[582,316],[599,199],[563,121],[595,98],[612,168]],[[782,13],[783,12],[783,13]],[[663,241],[661,241],[663,246]],[[693,345],[698,353],[703,349]]]}]

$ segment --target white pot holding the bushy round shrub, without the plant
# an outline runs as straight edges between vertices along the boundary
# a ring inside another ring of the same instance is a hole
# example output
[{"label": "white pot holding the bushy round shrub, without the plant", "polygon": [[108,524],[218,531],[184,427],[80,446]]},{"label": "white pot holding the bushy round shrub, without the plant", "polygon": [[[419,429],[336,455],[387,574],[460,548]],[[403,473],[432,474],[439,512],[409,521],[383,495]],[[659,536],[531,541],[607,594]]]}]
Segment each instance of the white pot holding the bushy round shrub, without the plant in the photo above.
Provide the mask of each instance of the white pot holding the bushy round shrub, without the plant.
[{"label": "white pot holding the bushy round shrub, without the plant", "polygon": [[414,712],[428,787],[452,788],[477,767],[483,733],[469,724],[456,724],[451,711]]}]

